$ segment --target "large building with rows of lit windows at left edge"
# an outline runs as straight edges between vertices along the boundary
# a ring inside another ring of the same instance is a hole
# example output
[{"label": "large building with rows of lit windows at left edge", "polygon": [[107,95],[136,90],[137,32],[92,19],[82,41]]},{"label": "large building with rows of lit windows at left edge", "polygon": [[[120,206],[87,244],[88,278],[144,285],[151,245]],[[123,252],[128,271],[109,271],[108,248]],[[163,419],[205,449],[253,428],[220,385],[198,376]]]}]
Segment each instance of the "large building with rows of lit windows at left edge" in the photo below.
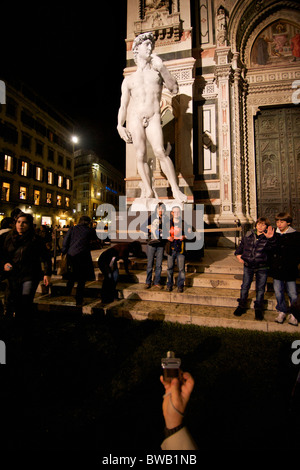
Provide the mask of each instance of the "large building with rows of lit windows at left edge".
[{"label": "large building with rows of lit windows at left edge", "polygon": [[22,83],[0,105],[0,219],[15,207],[40,225],[73,221],[74,123]]}]

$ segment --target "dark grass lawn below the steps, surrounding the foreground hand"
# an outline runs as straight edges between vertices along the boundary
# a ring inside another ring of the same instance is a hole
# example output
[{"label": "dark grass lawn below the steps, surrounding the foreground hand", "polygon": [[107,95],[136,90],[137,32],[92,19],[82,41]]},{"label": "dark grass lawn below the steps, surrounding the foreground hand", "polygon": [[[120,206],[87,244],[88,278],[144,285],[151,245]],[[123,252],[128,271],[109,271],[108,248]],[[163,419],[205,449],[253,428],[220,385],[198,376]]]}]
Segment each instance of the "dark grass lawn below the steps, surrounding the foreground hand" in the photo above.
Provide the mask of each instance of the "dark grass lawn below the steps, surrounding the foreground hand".
[{"label": "dark grass lawn below the steps, surrounding the foreground hand", "polygon": [[2,449],[159,450],[160,360],[195,378],[186,423],[200,450],[298,448],[290,396],[299,366],[283,333],[158,321],[39,316],[22,335],[0,319]]}]

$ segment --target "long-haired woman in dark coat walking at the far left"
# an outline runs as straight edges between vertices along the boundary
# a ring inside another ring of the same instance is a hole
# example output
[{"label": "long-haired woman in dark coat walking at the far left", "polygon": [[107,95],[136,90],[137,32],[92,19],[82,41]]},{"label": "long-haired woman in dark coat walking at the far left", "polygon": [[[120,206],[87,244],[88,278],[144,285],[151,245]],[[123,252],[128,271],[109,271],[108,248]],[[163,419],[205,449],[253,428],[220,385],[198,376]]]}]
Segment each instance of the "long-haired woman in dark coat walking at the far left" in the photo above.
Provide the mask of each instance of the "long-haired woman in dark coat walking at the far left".
[{"label": "long-haired woman in dark coat walking at the far left", "polygon": [[[51,253],[35,233],[31,214],[20,212],[15,227],[1,244],[1,271],[8,280],[7,314],[26,323],[32,316],[33,300],[40,280],[49,285]],[[43,262],[44,270],[42,270]]]}]

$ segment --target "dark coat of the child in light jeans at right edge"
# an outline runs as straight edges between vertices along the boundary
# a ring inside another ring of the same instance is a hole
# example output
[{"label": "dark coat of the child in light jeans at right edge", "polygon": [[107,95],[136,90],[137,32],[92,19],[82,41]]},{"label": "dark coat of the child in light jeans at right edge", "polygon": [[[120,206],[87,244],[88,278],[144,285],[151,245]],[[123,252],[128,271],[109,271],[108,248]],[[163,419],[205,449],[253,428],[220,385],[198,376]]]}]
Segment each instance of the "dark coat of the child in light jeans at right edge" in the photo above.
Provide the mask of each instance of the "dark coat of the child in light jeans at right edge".
[{"label": "dark coat of the child in light jeans at right edge", "polygon": [[270,274],[274,279],[295,281],[300,263],[300,232],[289,227],[285,233],[275,233],[276,246],[271,257]]}]

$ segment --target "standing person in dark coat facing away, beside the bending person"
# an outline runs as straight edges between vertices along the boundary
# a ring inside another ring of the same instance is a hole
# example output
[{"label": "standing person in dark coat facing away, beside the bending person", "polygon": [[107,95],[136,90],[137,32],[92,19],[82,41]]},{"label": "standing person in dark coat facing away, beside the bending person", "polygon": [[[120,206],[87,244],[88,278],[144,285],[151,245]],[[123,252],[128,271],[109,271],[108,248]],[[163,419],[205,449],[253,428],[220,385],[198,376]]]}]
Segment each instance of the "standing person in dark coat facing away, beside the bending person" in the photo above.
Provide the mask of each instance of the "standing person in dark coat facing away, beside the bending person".
[{"label": "standing person in dark coat facing away, beside the bending person", "polygon": [[71,294],[75,281],[76,305],[81,306],[87,281],[95,280],[95,271],[91,257],[91,242],[97,240],[95,229],[91,228],[91,219],[82,216],[78,225],[71,227],[64,238],[62,254],[68,255],[67,293]]}]

